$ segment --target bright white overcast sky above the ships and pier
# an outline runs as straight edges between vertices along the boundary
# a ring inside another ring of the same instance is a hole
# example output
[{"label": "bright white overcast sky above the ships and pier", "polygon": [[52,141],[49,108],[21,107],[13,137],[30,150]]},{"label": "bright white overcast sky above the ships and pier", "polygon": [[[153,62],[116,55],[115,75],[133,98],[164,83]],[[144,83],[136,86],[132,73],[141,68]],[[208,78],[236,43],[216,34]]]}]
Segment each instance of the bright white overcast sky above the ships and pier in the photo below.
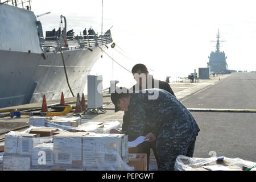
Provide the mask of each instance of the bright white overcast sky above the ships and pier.
[{"label": "bright white overcast sky above the ships and pier", "polygon": [[[104,1],[103,30],[112,27],[113,41],[133,60],[109,49],[118,63],[131,70],[143,63],[152,75],[162,80],[175,73],[187,76],[199,67],[207,67],[208,56],[215,50],[220,29],[221,51],[228,59],[228,69],[256,71],[256,1],[167,1],[109,0]],[[101,0],[34,0],[35,15],[43,31],[59,27],[60,15],[67,18],[68,30],[75,34],[89,29],[101,32]],[[118,49],[121,51],[120,49]],[[104,55],[92,74],[112,79],[112,60]],[[133,80],[132,75],[114,63],[114,79]]]}]

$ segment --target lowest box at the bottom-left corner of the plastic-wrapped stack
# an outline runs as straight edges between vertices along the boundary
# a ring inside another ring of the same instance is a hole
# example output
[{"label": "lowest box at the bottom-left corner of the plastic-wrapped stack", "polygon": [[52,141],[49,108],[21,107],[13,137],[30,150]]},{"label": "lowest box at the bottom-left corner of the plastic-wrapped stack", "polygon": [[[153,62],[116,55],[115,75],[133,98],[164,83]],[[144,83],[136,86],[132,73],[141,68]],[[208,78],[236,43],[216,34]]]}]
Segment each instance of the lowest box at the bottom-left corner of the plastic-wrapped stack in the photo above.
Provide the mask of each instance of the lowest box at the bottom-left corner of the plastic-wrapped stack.
[{"label": "lowest box at the bottom-left corner of the plastic-wrapped stack", "polygon": [[3,171],[25,171],[30,169],[30,156],[3,156]]}]

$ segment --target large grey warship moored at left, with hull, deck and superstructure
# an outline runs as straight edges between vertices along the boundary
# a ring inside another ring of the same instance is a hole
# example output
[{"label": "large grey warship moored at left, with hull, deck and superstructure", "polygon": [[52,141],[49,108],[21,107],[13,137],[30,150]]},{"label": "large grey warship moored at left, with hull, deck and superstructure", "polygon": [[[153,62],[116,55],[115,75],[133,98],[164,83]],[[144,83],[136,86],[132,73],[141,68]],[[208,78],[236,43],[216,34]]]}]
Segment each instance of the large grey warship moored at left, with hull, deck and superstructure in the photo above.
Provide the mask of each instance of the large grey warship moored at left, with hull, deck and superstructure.
[{"label": "large grey warship moored at left, with hull, deck and superstructure", "polygon": [[72,97],[64,68],[72,92],[84,92],[90,69],[113,42],[111,32],[67,36],[67,21],[60,18],[60,34],[44,38],[31,6],[0,0],[0,107],[40,102],[44,94],[47,100],[60,99],[61,92]]}]

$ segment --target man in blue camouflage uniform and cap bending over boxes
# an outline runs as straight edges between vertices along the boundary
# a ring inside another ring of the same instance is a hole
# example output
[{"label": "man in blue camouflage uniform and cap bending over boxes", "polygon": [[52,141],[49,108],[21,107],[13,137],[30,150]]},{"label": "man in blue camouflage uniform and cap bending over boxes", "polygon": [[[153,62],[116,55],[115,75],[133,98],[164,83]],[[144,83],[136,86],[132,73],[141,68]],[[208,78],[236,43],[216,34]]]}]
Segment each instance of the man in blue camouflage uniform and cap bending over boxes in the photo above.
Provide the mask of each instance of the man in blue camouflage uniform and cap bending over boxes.
[{"label": "man in blue camouflage uniform and cap bending over boxes", "polygon": [[146,93],[115,92],[111,95],[115,106],[130,111],[130,124],[123,134],[132,141],[150,126],[152,131],[146,138],[156,139],[158,170],[174,170],[178,155],[193,156],[200,129],[192,114],[170,93],[162,89],[143,91]]}]

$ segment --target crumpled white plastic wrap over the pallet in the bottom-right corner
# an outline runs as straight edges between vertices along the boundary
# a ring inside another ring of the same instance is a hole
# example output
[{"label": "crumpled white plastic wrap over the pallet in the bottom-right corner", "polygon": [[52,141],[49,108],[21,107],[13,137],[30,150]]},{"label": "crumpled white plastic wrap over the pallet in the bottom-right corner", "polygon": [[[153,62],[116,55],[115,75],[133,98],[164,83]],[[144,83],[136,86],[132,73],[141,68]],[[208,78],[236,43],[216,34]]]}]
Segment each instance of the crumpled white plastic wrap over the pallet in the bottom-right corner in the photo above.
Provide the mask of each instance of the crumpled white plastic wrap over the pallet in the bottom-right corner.
[{"label": "crumpled white plastic wrap over the pallet in the bottom-right corner", "polygon": [[189,158],[177,156],[175,171],[243,171],[255,166],[255,162],[224,156],[212,158]]}]

